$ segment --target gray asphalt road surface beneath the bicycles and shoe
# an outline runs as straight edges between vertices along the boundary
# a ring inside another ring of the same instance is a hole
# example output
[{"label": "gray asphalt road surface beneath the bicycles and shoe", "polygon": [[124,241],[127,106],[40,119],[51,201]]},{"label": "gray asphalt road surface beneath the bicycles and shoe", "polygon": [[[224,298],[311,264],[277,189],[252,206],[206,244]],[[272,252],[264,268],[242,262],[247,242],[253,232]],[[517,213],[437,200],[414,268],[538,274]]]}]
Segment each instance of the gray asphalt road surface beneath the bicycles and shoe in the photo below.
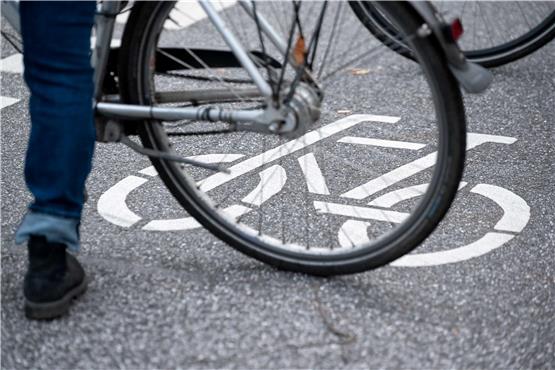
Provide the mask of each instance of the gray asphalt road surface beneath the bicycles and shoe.
[{"label": "gray asphalt road surface beneath the bicycles and shoe", "polygon": [[[2,58],[13,53],[3,42]],[[407,81],[399,101],[418,94],[411,63],[386,53],[377,68]],[[464,181],[514,192],[531,216],[502,247],[453,264],[316,278],[266,266],[205,230],[119,227],[99,215],[98,199],[150,163],[97,145],[79,255],[89,289],[52,322],[28,321],[22,310],[26,254],[13,233],[31,201],[23,180],[28,93],[20,75],[2,73],[0,95],[21,99],[1,111],[2,368],[555,368],[554,70],[551,43],[495,69],[486,93],[465,95],[469,132],[517,140],[469,151]],[[357,88],[344,87],[337,104],[353,113],[411,112],[395,101],[372,106]],[[330,188],[361,182],[335,181]],[[183,215],[159,179],[145,189],[130,194],[132,210],[148,219]],[[466,245],[502,213],[463,189],[416,253]]]}]

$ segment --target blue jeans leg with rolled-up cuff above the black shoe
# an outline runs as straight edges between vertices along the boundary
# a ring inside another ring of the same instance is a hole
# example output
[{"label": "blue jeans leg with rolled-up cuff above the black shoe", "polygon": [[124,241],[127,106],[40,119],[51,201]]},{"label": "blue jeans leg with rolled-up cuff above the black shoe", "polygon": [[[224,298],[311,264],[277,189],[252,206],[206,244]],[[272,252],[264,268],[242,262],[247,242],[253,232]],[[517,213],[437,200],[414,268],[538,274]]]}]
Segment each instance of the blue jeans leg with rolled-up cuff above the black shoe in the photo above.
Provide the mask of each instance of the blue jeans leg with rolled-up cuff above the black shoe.
[{"label": "blue jeans leg with rolled-up cuff above the black shoe", "polygon": [[95,143],[90,37],[94,1],[21,1],[31,135],[25,182],[34,196],[16,242],[42,235],[79,247]]}]

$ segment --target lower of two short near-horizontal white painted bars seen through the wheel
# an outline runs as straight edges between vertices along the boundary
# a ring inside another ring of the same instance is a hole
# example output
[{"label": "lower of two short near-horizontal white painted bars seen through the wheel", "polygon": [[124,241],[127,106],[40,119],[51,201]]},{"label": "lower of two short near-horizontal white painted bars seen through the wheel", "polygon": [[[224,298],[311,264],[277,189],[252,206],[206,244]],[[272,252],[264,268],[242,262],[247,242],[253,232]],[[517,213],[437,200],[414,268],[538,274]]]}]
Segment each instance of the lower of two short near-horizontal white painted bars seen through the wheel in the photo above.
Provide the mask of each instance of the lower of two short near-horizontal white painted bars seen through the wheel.
[{"label": "lower of two short near-horizontal white painted bars seen through the wheel", "polygon": [[340,216],[365,218],[369,220],[386,221],[393,223],[401,223],[408,216],[408,213],[387,211],[377,208],[349,206],[347,204],[314,202],[314,208],[320,213],[330,213]]}]

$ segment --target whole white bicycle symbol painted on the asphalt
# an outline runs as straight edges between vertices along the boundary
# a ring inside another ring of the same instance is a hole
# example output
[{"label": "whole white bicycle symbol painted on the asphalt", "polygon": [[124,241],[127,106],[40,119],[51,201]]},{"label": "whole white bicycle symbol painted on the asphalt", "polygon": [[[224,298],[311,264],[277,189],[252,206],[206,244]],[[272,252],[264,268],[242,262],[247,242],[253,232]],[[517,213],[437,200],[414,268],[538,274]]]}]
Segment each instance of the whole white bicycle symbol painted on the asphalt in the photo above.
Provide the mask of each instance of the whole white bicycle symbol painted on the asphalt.
[{"label": "whole white bicycle symbol painted on the asphalt", "polygon": [[[214,189],[215,187],[220,186],[232,179],[254,171],[264,164],[275,161],[285,155],[290,155],[306,146],[340,133],[341,131],[353,127],[361,122],[374,121],[395,123],[398,120],[399,117],[374,115],[353,115],[343,118],[320,129],[311,131],[305,134],[302,138],[292,140],[260,155],[244,159],[229,168],[230,174],[216,173],[209,176],[200,182],[201,189],[204,191]],[[387,140],[344,137],[337,141],[343,143],[356,143],[357,141],[385,142]],[[467,150],[473,149],[485,143],[512,144],[515,141],[515,138],[506,136],[469,133],[467,136]],[[381,143],[380,145],[385,144]],[[386,145],[396,145],[396,147],[406,148],[413,146],[413,149],[423,146],[416,143],[392,141],[388,142]],[[363,185],[341,194],[340,197],[343,199],[368,198],[401,180],[411,177],[426,168],[432,167],[435,163],[435,155],[436,153],[431,153],[413,162],[398,167],[382,176],[372,179]],[[190,158],[207,163],[231,163],[244,158],[244,155],[216,153],[192,156]],[[269,161],[268,158],[271,160]],[[301,160],[301,158],[304,160]],[[314,155],[312,153],[308,153],[301,158],[298,160],[301,165],[301,169],[303,170],[303,174],[305,175],[305,179],[307,180],[309,191],[317,194],[329,194],[323,175],[315,162]],[[149,177],[157,176],[157,173],[152,166],[139,171],[139,173]],[[276,174],[279,174],[276,179],[281,179],[281,181],[268,181],[268,179],[271,179]],[[279,165],[266,168],[258,175],[260,177],[258,185],[242,199],[243,203],[256,206],[261,205],[273,195],[279,193],[287,180],[285,170]],[[311,178],[311,181],[308,181],[309,178]],[[99,214],[107,221],[121,227],[130,227],[136,224],[142,219],[142,217],[127,207],[126,198],[131,191],[139,188],[147,181],[147,178],[132,175],[118,182],[100,197],[97,205]],[[259,188],[263,185],[264,192],[260,192]],[[270,188],[268,188],[268,185],[270,185]],[[466,185],[466,183],[461,183],[459,190]],[[391,212],[391,214],[388,214],[388,220],[391,220],[392,216],[399,214],[398,222],[402,222],[404,220],[403,213],[386,211],[386,209],[394,206],[402,200],[421,196],[424,194],[426,187],[427,184],[419,184],[388,192],[370,201],[368,203],[368,206],[370,207],[355,207],[348,204],[320,201],[315,201],[314,207],[317,211],[322,213],[333,213],[358,218],[347,220],[338,232],[340,245],[343,247],[352,247],[353,244],[356,245],[358,243],[365,243],[368,241],[366,229],[370,224],[368,221],[360,220],[360,218],[380,219],[380,216],[376,216],[378,213],[373,211],[373,207],[379,207],[379,214],[382,215],[381,217],[383,217],[383,212]],[[462,247],[429,253],[411,253],[392,262],[391,265],[406,267],[434,266],[461,262],[470,258],[475,258],[489,253],[513,239],[520,231],[522,231],[530,219],[530,208],[528,204],[521,197],[505,188],[489,184],[478,184],[474,186],[470,192],[493,201],[503,210],[503,216],[495,224],[494,231],[487,232],[478,240]],[[262,193],[264,194],[264,198],[260,197],[260,194]],[[226,208],[224,211],[232,217],[239,217],[250,212],[251,210],[252,209],[248,206],[234,204]],[[193,217],[185,217],[177,219],[151,220],[143,226],[142,229],[150,231],[176,231],[192,230],[200,227],[201,225]],[[346,235],[349,237],[346,237]]]}]

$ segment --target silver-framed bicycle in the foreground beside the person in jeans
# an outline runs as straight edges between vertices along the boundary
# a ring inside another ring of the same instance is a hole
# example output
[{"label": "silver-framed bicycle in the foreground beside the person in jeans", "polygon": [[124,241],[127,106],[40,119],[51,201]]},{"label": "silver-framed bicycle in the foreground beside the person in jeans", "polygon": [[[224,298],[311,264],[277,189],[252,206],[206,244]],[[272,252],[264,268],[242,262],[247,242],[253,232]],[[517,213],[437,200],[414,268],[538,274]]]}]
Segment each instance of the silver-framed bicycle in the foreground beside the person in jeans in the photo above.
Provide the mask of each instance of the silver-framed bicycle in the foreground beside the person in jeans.
[{"label": "silver-framed bicycle in the foreground beside the person in jeans", "polygon": [[[100,4],[93,53],[98,141],[122,142],[149,156],[166,187],[200,224],[237,250],[279,268],[318,275],[355,273],[417,247],[447,212],[461,178],[465,116],[458,83],[479,92],[491,80],[487,71],[465,60],[454,39],[439,32],[446,27],[444,20],[427,3],[377,5],[404,33],[420,62],[421,75],[414,76],[414,66],[401,65],[399,76],[379,65],[363,68],[364,62],[388,54],[361,32],[364,26],[356,21],[368,16],[362,3],[238,1],[223,14],[206,0],[198,4],[207,22],[183,34],[165,26],[175,26],[172,12],[183,12],[175,2],[133,4],[127,8],[121,48],[111,51],[115,17],[126,8],[116,1]],[[284,13],[286,17],[277,17]],[[210,37],[214,29],[217,37]],[[252,43],[256,48],[247,47]],[[347,58],[347,51],[356,54]],[[386,92],[392,86],[387,78],[406,89]],[[369,83],[380,93],[368,94]],[[368,94],[358,109],[393,103],[411,121],[366,114],[322,125],[349,106],[345,87]],[[330,99],[330,94],[335,95]],[[328,162],[324,139],[345,130],[409,136],[430,153],[405,168],[406,173],[364,184],[368,173],[387,172],[408,156],[396,152],[398,143],[378,140],[374,144],[393,149],[374,152],[378,164],[367,168],[367,155],[346,148],[332,157],[337,183],[326,184],[315,163]],[[133,135],[142,146],[129,138]],[[291,163],[285,156],[316,144],[323,149],[306,153],[299,176],[287,177],[284,169]],[[198,155],[222,146],[241,147],[253,155],[247,164],[228,168]],[[197,156],[191,158],[191,152]],[[263,170],[260,180],[253,176],[255,167]],[[429,184],[419,201],[401,202],[402,211],[365,205],[365,212],[379,220],[366,229],[367,242],[350,247],[333,242],[341,215],[326,212],[318,200],[329,193],[328,187],[341,187],[347,180],[362,183],[356,194],[344,196],[363,205],[371,194],[394,184],[405,186],[411,177]],[[304,186],[303,179],[312,185]],[[249,191],[251,185],[254,191]]]}]

